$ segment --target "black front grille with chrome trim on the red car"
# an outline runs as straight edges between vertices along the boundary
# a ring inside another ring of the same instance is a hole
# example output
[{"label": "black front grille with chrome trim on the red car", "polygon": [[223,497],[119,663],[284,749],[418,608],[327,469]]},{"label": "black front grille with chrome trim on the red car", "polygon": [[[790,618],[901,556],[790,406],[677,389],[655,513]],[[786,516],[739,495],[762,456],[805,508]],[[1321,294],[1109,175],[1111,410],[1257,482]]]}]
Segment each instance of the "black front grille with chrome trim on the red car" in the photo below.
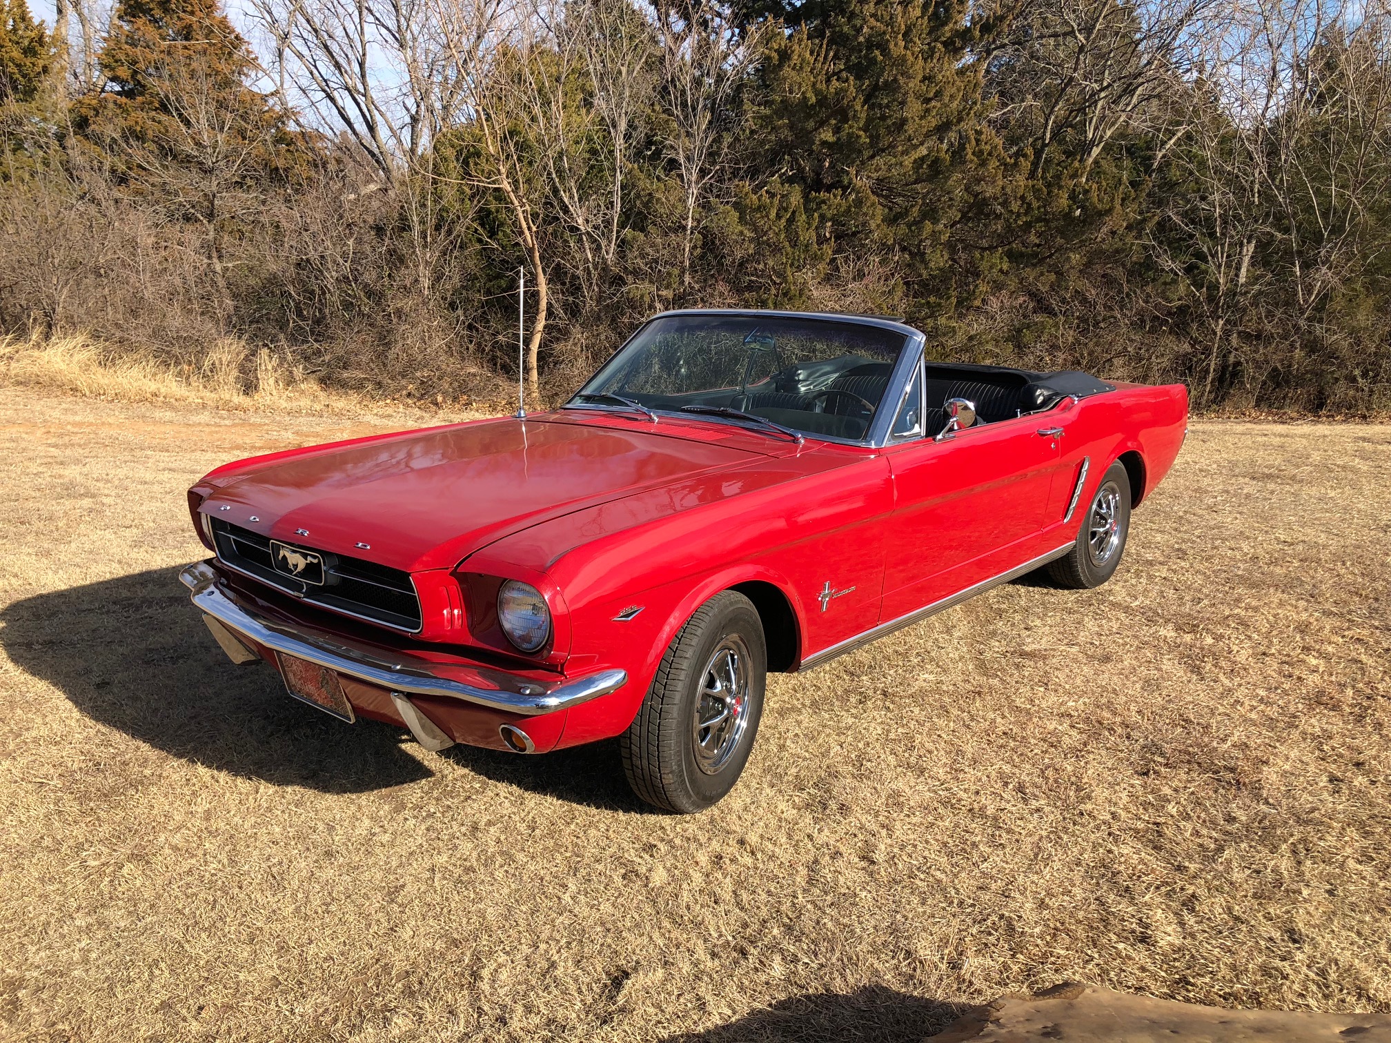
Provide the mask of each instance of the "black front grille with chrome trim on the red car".
[{"label": "black front grille with chrome trim on the red car", "polygon": [[362,558],[314,551],[324,558],[324,584],[316,585],[275,570],[271,563],[270,537],[214,517],[213,540],[217,544],[217,556],[224,563],[294,594],[310,605],[346,612],[401,630],[420,629],[420,598],[416,597],[408,572],[364,562]]}]

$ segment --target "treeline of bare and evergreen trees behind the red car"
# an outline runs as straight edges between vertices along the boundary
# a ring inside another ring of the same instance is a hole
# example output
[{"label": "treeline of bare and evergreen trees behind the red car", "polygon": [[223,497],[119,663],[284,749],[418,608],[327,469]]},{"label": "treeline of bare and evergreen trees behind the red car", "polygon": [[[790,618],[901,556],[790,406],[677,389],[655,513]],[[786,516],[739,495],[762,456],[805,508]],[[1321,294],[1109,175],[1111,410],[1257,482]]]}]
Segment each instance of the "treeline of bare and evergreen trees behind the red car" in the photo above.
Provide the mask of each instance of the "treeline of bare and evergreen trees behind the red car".
[{"label": "treeline of bare and evergreen trees behind the red car", "polygon": [[[652,312],[1391,407],[1381,0],[0,0],[0,332],[426,399]],[[264,357],[264,356],[263,356]]]}]

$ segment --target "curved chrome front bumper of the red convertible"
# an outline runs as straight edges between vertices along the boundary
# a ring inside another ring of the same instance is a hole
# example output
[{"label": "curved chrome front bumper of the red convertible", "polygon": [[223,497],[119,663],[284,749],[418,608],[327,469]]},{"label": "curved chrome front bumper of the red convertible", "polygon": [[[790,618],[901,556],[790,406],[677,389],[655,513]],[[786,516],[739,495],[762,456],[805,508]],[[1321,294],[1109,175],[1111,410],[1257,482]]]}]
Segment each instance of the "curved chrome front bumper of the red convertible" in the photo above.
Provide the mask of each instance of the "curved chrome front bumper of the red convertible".
[{"label": "curved chrome front bumper of the red convertible", "polygon": [[[490,683],[497,683],[498,687],[465,684],[441,676],[438,663],[409,652],[369,648],[320,630],[262,616],[234,601],[218,585],[218,579],[209,562],[195,562],[179,573],[179,580],[189,588],[193,605],[231,631],[231,637],[238,644],[241,644],[241,638],[248,638],[277,652],[295,655],[330,670],[387,688],[392,695],[442,695],[506,713],[536,716],[537,713],[552,713],[558,709],[577,706],[600,695],[618,691],[627,683],[625,670],[600,670],[586,677],[545,684],[477,668],[480,676]],[[217,627],[210,627],[210,630],[234,661],[259,658],[250,649],[246,649],[245,658],[239,656],[235,645],[228,648]]]}]

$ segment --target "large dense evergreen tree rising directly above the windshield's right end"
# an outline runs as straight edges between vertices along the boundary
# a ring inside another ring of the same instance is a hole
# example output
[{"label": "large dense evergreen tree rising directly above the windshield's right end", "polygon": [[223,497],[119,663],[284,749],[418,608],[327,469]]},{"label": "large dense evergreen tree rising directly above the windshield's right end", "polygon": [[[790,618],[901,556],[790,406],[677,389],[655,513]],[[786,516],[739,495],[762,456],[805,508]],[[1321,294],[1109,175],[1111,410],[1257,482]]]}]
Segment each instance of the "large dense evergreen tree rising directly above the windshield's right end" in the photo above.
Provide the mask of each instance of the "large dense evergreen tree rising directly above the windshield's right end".
[{"label": "large dense evergreen tree rising directly above the windshield's right end", "polygon": [[[758,165],[778,171],[758,192],[798,188],[833,253],[860,264],[881,259],[899,274],[901,305],[919,320],[978,299],[1003,264],[996,225],[1021,191],[985,120],[971,57],[982,26],[971,21],[971,7],[968,0],[785,4],[791,32],[771,36],[751,120]],[[800,220],[800,209],[780,211]]]}]

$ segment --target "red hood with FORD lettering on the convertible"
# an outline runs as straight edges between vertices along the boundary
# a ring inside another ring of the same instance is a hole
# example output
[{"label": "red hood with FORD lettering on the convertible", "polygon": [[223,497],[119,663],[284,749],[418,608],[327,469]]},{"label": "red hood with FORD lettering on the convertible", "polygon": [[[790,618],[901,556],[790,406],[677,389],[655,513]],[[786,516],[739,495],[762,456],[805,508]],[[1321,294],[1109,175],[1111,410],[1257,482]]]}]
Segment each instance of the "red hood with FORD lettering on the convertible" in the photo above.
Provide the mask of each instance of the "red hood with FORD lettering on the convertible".
[{"label": "red hood with FORD lettering on the convertible", "polygon": [[200,510],[275,540],[419,572],[453,567],[538,522],[759,456],[640,430],[504,419],[214,476]]}]

